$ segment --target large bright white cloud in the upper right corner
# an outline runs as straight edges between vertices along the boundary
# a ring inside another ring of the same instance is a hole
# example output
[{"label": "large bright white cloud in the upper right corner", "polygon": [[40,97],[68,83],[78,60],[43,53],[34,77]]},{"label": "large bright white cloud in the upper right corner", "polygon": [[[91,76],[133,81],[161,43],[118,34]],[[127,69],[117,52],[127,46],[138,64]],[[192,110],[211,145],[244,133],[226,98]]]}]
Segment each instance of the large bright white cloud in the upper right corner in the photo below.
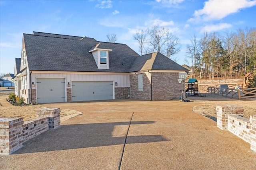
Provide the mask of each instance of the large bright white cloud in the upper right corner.
[{"label": "large bright white cloud in the upper right corner", "polygon": [[188,21],[210,21],[239,12],[243,8],[256,5],[256,0],[209,0],[204,2],[204,8],[194,12],[194,18]]}]

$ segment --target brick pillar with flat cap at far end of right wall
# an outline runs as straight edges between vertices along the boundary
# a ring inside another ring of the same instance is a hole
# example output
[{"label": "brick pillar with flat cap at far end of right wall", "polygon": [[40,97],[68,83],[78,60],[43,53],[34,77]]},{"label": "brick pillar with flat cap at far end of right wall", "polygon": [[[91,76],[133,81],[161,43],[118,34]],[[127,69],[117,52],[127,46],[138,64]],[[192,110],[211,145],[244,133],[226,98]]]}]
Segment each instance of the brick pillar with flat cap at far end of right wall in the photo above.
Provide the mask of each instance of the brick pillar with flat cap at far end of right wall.
[{"label": "brick pillar with flat cap at far end of right wall", "polygon": [[243,115],[244,109],[240,106],[217,106],[217,127],[228,130],[228,114]]}]

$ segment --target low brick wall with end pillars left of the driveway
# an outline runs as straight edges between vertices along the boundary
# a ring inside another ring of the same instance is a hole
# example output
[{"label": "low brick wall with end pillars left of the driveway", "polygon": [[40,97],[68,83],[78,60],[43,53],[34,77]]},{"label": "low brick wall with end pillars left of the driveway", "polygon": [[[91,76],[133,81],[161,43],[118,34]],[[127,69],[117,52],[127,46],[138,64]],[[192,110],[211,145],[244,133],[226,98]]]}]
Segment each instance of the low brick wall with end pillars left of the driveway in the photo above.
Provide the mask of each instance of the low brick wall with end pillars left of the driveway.
[{"label": "low brick wall with end pillars left of the driveway", "polygon": [[37,118],[23,121],[23,118],[0,118],[0,155],[11,154],[23,143],[37,135],[60,125],[60,109],[39,109]]}]

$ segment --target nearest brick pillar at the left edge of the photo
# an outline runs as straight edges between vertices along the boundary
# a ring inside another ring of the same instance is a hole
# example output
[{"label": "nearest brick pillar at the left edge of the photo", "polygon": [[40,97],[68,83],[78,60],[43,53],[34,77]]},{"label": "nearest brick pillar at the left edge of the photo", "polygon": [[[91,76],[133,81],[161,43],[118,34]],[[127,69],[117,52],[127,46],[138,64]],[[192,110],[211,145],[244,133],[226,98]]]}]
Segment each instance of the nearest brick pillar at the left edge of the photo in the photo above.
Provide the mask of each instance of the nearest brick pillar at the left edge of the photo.
[{"label": "nearest brick pillar at the left edge of the photo", "polygon": [[23,118],[0,118],[0,154],[11,154],[23,144]]}]

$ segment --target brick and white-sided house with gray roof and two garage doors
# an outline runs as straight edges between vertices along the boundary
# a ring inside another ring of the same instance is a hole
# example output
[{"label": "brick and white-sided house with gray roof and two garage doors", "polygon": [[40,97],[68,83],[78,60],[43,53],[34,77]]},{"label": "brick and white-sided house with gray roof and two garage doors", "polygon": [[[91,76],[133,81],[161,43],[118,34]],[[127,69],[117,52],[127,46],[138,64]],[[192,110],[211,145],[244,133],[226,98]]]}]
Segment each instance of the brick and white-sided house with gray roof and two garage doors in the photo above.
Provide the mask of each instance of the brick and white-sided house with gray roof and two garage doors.
[{"label": "brick and white-sided house with gray roof and two garage doors", "polygon": [[161,53],[140,56],[126,44],[42,32],[23,34],[15,69],[15,94],[32,104],[171,100],[180,96],[179,72],[187,71]]}]

